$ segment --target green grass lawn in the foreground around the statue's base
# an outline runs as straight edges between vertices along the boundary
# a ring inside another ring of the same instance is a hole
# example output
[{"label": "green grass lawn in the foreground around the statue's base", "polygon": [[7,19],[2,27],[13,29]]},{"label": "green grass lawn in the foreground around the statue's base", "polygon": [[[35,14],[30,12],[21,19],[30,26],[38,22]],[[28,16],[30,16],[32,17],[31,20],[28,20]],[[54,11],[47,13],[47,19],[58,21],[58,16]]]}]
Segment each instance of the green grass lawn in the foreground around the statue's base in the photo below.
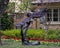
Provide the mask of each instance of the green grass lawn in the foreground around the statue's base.
[{"label": "green grass lawn in the foreground around the statue's base", "polygon": [[[14,40],[2,40],[3,45],[0,46],[0,48],[60,48],[60,46],[57,45],[57,43],[49,43],[47,44],[41,44],[38,46],[27,46],[22,45],[21,41],[14,41]],[[60,44],[60,43],[59,43]]]}]

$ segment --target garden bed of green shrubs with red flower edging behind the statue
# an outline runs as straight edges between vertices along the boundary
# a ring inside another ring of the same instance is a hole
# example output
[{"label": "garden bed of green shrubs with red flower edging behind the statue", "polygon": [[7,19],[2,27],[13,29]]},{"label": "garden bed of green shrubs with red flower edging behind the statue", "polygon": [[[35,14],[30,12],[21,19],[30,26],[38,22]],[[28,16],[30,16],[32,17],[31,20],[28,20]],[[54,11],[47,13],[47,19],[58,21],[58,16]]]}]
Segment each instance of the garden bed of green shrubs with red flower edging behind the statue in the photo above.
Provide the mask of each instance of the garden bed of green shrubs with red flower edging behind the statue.
[{"label": "garden bed of green shrubs with red flower edging behind the statue", "polygon": [[[46,35],[45,30],[29,29],[26,37],[28,38],[28,40],[60,42],[60,30],[48,30],[48,34]],[[3,31],[3,35],[1,38],[21,40],[21,32],[19,29],[6,30]]]}]

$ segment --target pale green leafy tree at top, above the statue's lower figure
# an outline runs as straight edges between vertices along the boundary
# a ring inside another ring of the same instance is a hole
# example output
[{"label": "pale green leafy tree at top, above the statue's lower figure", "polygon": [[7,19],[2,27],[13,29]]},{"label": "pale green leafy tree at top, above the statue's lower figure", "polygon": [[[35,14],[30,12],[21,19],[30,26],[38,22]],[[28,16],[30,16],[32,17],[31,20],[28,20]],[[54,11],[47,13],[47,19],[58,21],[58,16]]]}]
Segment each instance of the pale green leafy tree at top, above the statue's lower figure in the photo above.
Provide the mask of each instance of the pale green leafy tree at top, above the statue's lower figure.
[{"label": "pale green leafy tree at top, above the statue's lower figure", "polygon": [[32,10],[33,5],[31,4],[32,0],[21,0],[21,4],[19,5],[21,12],[26,12],[28,10]]}]

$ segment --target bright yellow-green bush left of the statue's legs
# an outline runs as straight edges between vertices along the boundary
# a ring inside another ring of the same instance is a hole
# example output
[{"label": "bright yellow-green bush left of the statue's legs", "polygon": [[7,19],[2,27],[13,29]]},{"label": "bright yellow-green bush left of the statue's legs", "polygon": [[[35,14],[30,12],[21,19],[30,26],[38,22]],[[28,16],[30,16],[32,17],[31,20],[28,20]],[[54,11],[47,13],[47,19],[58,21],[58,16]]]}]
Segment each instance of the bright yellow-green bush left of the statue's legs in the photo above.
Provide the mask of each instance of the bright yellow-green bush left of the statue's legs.
[{"label": "bright yellow-green bush left of the statue's legs", "polygon": [[21,37],[20,36],[20,30],[16,30],[16,29],[14,29],[14,30],[6,30],[6,31],[4,31],[4,33],[3,33],[4,35],[6,35],[6,36],[9,36],[9,37]]}]

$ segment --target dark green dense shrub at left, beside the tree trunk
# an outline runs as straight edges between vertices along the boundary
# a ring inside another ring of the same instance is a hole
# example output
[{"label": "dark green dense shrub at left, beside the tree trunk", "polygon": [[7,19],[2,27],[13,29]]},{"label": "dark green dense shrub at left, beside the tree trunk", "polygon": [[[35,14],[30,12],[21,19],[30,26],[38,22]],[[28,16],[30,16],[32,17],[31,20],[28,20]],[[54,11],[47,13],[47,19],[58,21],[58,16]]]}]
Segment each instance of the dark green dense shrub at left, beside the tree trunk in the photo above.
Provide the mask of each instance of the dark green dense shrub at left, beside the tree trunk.
[{"label": "dark green dense shrub at left, beside the tree trunk", "polygon": [[4,13],[3,17],[1,18],[2,30],[11,29],[11,24],[12,24],[12,21],[10,20],[8,14]]}]

